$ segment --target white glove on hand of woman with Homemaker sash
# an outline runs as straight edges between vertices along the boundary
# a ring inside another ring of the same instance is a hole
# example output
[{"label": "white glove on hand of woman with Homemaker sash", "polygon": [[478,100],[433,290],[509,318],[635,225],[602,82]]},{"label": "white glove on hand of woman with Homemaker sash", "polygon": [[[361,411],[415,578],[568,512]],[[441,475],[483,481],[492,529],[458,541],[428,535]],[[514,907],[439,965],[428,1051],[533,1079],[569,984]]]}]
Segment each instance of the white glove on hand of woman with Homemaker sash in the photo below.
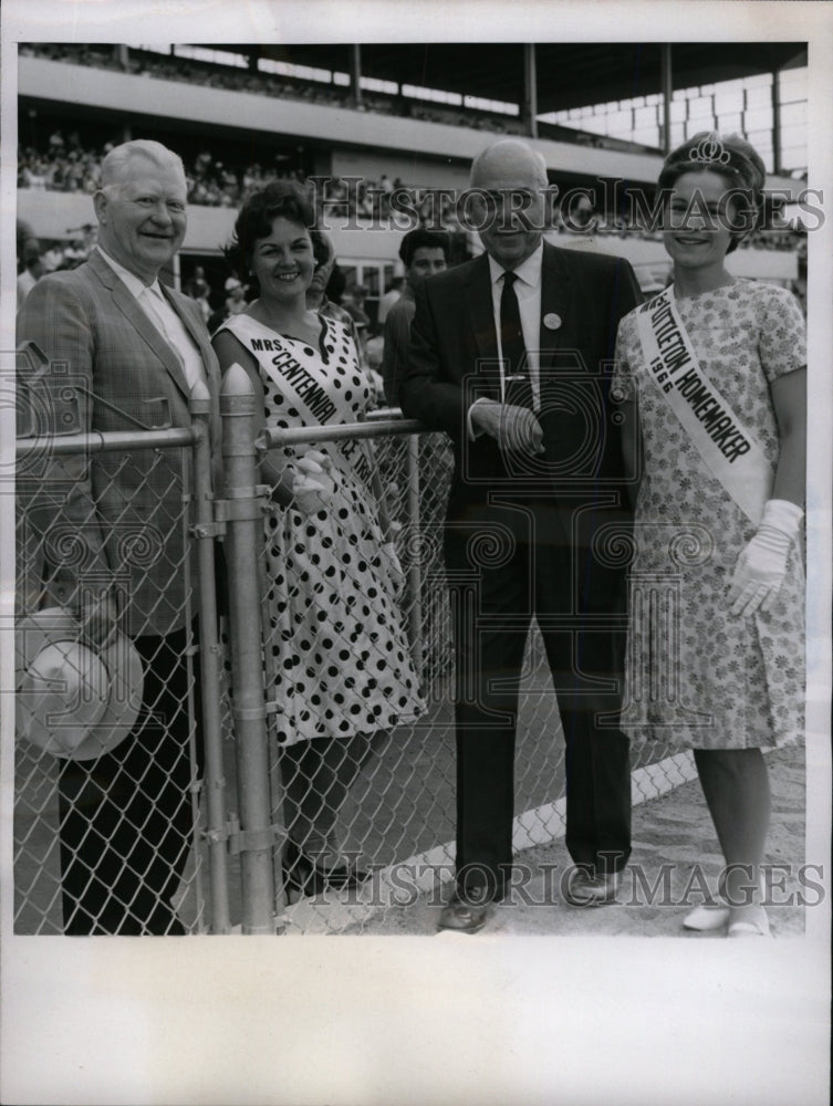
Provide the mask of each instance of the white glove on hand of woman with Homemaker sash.
[{"label": "white glove on hand of woman with Homemaker sash", "polygon": [[749,618],[759,608],[769,611],[787,575],[787,556],[803,515],[785,499],[766,504],[758,532],[735,566],[727,596],[731,614]]}]

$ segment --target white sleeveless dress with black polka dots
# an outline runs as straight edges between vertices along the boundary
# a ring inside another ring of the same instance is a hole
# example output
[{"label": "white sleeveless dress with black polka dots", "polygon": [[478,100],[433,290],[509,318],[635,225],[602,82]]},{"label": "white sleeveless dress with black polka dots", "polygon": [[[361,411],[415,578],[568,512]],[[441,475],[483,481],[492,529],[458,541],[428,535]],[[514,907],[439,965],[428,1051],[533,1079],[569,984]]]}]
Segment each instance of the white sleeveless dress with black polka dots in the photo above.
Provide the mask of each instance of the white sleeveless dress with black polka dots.
[{"label": "white sleeveless dress with black polka dots", "polygon": [[[348,328],[320,317],[317,348],[248,314],[221,327],[258,362],[268,427],[354,422],[368,405]],[[333,462],[326,509],[304,514],[275,504],[264,523],[268,698],[278,705],[282,745],[371,734],[412,721],[424,707],[379,557],[372,450],[357,439],[315,449]],[[287,460],[295,453],[287,448]]]}]

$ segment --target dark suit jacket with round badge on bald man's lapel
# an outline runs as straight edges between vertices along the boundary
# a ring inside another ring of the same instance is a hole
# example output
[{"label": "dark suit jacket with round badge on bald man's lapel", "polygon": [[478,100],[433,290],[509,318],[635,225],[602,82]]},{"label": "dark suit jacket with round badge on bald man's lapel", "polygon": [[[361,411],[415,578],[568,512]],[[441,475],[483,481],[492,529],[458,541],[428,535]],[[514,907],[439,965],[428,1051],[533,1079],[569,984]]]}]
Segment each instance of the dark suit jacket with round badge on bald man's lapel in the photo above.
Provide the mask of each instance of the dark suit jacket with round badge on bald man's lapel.
[{"label": "dark suit jacket with round badge on bald man's lapel", "polygon": [[[486,254],[426,281],[417,293],[403,413],[455,445],[449,523],[489,518],[490,494],[563,508],[563,539],[590,549],[598,528],[627,515],[618,411],[611,366],[619,320],[641,302],[627,261],[544,242],[540,383],[545,456],[513,462],[492,438],[468,440],[478,396],[500,398]],[[545,322],[546,321],[546,322]],[[546,324],[550,325],[546,325]]]}]

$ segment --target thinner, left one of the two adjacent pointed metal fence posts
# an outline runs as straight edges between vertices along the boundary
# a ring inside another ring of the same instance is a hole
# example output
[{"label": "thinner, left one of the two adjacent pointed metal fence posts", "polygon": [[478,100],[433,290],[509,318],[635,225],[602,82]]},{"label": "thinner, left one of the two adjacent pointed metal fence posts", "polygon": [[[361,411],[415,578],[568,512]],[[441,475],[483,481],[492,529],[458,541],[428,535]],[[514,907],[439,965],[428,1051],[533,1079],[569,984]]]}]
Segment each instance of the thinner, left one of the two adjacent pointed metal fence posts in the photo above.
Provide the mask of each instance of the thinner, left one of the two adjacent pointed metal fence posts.
[{"label": "thinner, left one of the two adjacent pointed metal fence posts", "polygon": [[228,853],[226,846],[226,779],[220,719],[220,644],[217,629],[214,493],[209,418],[211,397],[205,384],[191,389],[194,419],[195,525],[199,565],[199,660],[202,685],[202,737],[206,749],[206,838],[211,890],[211,932],[231,932]]}]

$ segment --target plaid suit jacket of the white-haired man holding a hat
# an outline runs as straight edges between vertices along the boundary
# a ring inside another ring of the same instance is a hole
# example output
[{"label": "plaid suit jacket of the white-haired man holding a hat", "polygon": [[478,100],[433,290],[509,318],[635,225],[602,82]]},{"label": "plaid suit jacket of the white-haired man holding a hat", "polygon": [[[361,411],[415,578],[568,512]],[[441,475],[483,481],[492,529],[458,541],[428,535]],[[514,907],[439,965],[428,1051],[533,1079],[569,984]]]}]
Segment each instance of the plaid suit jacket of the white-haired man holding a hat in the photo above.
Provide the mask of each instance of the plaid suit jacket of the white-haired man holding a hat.
[{"label": "plaid suit jacket of the white-haired man holding a hat", "polygon": [[[199,307],[165,285],[163,292],[201,354],[212,438],[219,440],[219,365]],[[82,431],[135,431],[137,424],[158,425],[163,417],[174,427],[190,426],[179,358],[96,253],[35,284],[18,315],[18,342],[27,340],[55,363],[55,379],[66,374]],[[83,545],[80,560],[67,555],[62,564],[60,550],[46,541],[48,566],[56,566],[53,596],[71,602],[79,578],[92,580],[91,573],[96,581],[115,577],[126,597],[128,634],[160,636],[180,628],[186,615],[180,451],[95,452],[88,463],[63,460],[53,474],[58,483],[50,488],[44,481],[31,515],[40,520],[39,529],[54,535],[64,530],[65,539],[74,532]],[[50,497],[55,505],[44,511]]]}]

